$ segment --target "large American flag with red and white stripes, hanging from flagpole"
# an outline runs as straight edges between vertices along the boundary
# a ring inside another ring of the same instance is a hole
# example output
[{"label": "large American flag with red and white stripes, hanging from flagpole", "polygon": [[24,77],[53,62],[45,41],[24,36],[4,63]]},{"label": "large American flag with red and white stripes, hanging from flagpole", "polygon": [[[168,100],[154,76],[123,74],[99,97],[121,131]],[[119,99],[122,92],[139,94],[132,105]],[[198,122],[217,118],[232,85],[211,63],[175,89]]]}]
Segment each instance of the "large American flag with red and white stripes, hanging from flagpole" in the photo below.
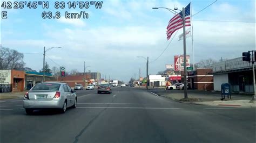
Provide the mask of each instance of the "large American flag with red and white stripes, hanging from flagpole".
[{"label": "large American flag with red and white stripes, hanging from flagpole", "polygon": [[[178,29],[183,27],[182,11],[174,16],[167,26],[167,40],[171,38],[171,35]],[[185,8],[185,26],[190,26],[190,3]]]}]

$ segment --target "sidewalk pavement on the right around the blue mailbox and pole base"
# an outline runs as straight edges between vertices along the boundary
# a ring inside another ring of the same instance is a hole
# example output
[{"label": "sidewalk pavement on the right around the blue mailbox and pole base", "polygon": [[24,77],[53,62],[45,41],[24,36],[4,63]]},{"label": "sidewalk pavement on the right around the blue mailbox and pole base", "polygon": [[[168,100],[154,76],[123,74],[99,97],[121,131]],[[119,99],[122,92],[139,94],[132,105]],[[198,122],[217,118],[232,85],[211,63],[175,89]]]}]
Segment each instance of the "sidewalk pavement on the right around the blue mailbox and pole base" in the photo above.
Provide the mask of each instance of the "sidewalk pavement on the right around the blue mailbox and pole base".
[{"label": "sidewalk pavement on the right around the blue mailbox and pole base", "polygon": [[230,106],[230,107],[256,107],[256,103],[251,103],[252,95],[231,94],[231,99],[225,97],[221,101],[221,95],[218,91],[199,91],[188,90],[188,99],[184,99],[184,90],[159,90],[150,89],[150,92],[173,99],[178,102],[211,105],[211,106]]}]

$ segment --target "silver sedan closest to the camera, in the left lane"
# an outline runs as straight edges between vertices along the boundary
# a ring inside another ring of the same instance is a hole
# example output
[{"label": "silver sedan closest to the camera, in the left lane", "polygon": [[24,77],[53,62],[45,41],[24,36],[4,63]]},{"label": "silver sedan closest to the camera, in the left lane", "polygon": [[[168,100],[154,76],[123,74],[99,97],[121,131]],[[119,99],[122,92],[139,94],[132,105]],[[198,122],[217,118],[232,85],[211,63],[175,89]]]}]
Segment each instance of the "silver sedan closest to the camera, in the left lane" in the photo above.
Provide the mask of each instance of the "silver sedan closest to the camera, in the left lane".
[{"label": "silver sedan closest to the camera, in the left lane", "polygon": [[66,108],[76,108],[77,95],[68,84],[59,82],[38,83],[23,97],[23,108],[27,114],[36,109],[59,109],[65,113]]}]

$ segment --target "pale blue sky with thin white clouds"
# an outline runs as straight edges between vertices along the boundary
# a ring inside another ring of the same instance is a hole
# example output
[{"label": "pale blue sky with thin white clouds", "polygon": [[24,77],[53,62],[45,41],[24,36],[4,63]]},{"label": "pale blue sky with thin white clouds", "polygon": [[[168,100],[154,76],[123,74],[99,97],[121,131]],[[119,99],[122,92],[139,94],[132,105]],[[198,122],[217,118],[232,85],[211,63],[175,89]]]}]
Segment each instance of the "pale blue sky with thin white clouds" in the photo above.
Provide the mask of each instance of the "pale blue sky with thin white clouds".
[{"label": "pale blue sky with thin white clouds", "polygon": [[[214,1],[193,0],[192,15]],[[5,2],[12,2],[14,6],[14,1]],[[39,71],[43,68],[43,47],[60,46],[62,48],[46,52],[45,60],[50,67],[65,66],[66,71],[83,72],[85,61],[86,66],[90,66],[86,71],[98,71],[107,78],[128,82],[134,74],[139,77],[139,68],[141,76],[146,76],[146,60],[137,56],[149,56],[149,74],[152,75],[165,70],[166,64],[173,64],[174,55],[183,54],[183,41],[178,41],[182,29],[172,35],[172,41],[166,39],[166,26],[173,13],[152,8],[182,9],[190,0],[103,1],[101,9],[96,9],[95,5],[88,9],[78,6],[69,9],[67,3],[73,1],[64,1],[65,9],[56,9],[55,2],[49,1],[49,9],[42,9],[42,5],[36,9],[1,8],[7,11],[8,18],[1,19],[0,43],[24,53],[26,67]],[[242,52],[255,50],[255,7],[254,0],[218,0],[194,15],[195,63],[209,58],[238,58]],[[59,11],[60,18],[43,19],[43,11],[51,11],[53,15]],[[65,12],[80,11],[85,11],[89,18],[65,18]],[[186,39],[186,47],[192,63],[191,37]]]}]

